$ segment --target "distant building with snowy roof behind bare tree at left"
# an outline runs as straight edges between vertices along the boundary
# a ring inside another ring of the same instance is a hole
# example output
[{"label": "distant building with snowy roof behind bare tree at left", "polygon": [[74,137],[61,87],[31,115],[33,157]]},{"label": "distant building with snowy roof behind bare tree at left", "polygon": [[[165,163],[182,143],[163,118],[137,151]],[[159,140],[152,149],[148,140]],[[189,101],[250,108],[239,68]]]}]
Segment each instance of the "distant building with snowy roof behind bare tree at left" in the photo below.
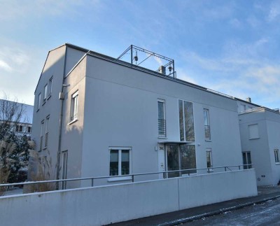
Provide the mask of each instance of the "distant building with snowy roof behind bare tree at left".
[{"label": "distant building with snowy roof behind bare tree at left", "polygon": [[0,111],[0,123],[8,121],[10,129],[13,129],[18,136],[25,135],[31,138],[33,106],[0,99]]}]

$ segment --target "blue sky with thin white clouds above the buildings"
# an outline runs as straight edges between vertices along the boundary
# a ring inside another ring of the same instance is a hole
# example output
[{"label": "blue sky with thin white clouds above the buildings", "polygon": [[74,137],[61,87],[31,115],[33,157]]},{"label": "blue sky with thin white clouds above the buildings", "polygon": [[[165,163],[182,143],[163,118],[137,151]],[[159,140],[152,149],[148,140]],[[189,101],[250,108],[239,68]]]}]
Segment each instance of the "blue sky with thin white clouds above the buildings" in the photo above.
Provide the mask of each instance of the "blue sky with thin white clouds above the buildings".
[{"label": "blue sky with thin white clouds above the buildings", "polygon": [[118,57],[137,45],[177,77],[280,107],[280,0],[0,0],[0,97],[33,104],[48,51],[63,43]]}]

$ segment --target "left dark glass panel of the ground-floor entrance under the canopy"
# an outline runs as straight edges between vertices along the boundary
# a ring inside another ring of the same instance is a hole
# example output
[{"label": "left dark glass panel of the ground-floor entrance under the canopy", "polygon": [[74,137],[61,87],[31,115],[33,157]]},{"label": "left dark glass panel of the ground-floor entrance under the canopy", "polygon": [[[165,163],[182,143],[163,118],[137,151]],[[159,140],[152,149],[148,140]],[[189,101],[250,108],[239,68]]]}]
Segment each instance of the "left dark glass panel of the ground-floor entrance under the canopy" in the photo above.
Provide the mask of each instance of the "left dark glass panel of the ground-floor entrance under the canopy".
[{"label": "left dark glass panel of the ground-floor entrance under the canopy", "polygon": [[[167,171],[179,170],[179,147],[167,146]],[[179,176],[179,172],[168,173],[168,177]]]}]

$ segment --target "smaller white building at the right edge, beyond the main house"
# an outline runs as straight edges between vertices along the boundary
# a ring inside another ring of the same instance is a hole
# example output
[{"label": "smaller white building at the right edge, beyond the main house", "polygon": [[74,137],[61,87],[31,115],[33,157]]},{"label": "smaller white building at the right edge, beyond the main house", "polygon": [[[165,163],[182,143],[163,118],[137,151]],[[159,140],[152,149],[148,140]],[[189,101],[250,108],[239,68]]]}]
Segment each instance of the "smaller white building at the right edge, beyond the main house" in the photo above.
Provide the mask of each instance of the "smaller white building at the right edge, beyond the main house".
[{"label": "smaller white building at the right edge, beyond the main house", "polygon": [[242,157],[253,164],[258,185],[276,185],[280,180],[280,113],[237,99]]}]

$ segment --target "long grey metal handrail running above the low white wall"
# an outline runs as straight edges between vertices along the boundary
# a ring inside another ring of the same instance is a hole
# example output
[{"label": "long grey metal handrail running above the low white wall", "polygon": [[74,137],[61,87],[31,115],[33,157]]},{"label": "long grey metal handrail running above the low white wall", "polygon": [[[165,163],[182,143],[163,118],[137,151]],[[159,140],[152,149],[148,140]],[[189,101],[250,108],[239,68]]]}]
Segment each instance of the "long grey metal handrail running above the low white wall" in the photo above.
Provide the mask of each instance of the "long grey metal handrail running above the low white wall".
[{"label": "long grey metal handrail running above the low white wall", "polygon": [[[199,171],[199,170],[206,170],[209,173],[209,170],[212,169],[230,169],[229,167],[238,167],[238,170],[241,170],[241,167],[248,167],[253,166],[253,164],[241,164],[241,165],[232,165],[232,166],[225,166],[225,167],[208,167],[208,168],[196,168],[196,169],[179,169],[179,170],[172,170],[172,171],[160,171],[160,172],[150,172],[150,173],[142,173],[142,174],[127,174],[127,175],[121,175],[121,176],[97,176],[97,177],[86,177],[86,178],[71,178],[71,179],[61,179],[61,180],[50,180],[50,181],[27,181],[27,182],[21,182],[21,183],[4,183],[0,184],[0,187],[4,186],[16,186],[16,185],[32,185],[32,184],[39,184],[39,183],[58,183],[58,182],[66,182],[66,181],[86,181],[86,180],[96,180],[96,179],[104,179],[104,178],[122,178],[124,176],[131,176],[132,182],[134,182],[134,176],[144,176],[144,175],[152,175],[152,174],[163,174],[164,178],[165,175],[169,173],[176,173],[176,172],[182,172],[182,171]],[[243,169],[247,170],[247,169]],[[188,173],[190,175],[190,173]],[[181,177],[181,176],[180,176]],[[92,183],[93,184],[93,183]],[[92,185],[93,187],[93,185]]]}]

